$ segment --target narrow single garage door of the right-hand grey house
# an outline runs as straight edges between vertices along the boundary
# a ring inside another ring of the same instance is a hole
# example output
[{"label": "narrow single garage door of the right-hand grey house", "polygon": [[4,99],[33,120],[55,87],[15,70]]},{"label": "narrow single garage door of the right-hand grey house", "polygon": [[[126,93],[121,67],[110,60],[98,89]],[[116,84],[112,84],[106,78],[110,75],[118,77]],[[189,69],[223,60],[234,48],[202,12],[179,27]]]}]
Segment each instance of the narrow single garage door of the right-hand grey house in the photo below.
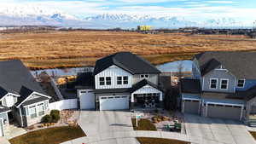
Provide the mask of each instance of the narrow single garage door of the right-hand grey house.
[{"label": "narrow single garage door of the right-hand grey house", "polygon": [[184,100],[184,112],[198,114],[200,102],[195,100]]}]

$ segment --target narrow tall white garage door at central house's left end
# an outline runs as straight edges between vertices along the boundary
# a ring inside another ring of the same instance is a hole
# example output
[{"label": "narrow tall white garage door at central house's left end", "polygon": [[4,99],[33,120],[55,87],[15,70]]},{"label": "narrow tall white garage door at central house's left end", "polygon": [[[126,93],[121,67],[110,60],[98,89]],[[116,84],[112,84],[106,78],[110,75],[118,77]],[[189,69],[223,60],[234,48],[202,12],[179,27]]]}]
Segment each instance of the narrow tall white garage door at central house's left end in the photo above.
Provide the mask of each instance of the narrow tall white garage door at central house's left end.
[{"label": "narrow tall white garage door at central house's left end", "polygon": [[92,90],[83,90],[79,92],[80,109],[94,109],[95,95]]}]

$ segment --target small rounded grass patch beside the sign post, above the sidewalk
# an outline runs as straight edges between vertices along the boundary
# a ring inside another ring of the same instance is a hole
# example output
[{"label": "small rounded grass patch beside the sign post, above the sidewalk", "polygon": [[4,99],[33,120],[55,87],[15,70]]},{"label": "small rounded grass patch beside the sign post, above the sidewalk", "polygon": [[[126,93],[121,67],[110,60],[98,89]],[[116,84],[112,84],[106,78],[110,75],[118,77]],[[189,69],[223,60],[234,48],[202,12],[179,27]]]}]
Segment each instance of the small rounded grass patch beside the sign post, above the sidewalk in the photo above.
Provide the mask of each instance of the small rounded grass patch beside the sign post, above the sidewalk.
[{"label": "small rounded grass patch beside the sign post, above the sidewalk", "polygon": [[133,130],[151,130],[151,131],[156,131],[156,127],[154,124],[148,120],[148,119],[140,119],[138,121],[138,127],[136,127],[136,119],[131,118],[131,122],[133,125]]}]

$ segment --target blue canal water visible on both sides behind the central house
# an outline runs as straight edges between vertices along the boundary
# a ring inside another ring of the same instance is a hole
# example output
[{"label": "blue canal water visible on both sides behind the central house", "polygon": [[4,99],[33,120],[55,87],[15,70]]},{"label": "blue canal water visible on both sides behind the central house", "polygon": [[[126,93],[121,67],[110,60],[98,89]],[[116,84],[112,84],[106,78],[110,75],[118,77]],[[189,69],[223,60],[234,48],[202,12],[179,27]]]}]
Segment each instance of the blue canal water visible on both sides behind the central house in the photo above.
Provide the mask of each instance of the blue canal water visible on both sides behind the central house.
[{"label": "blue canal water visible on both sides behind the central house", "polygon": [[[162,65],[156,66],[161,72],[177,72],[177,66],[179,64],[183,65],[183,72],[190,72],[192,69],[192,61],[191,60],[179,60],[173,62],[167,62]],[[50,76],[69,76],[69,75],[77,75],[79,72],[92,72],[93,67],[73,67],[73,68],[54,68],[54,69],[44,69],[44,70],[36,70],[31,71],[33,76],[36,74],[40,74],[41,72],[47,72]]]}]

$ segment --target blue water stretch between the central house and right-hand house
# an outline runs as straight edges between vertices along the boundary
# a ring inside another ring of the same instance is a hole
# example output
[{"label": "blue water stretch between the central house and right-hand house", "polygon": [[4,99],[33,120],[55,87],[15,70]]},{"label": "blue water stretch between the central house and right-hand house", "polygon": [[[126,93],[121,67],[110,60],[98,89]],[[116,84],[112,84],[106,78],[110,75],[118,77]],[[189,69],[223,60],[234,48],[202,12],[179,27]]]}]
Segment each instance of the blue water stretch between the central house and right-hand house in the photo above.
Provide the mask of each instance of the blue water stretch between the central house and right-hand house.
[{"label": "blue water stretch between the central house and right-hand house", "polygon": [[178,72],[177,67],[179,65],[183,66],[183,72],[191,72],[192,71],[192,61],[191,60],[178,60],[173,62],[167,62],[162,65],[156,66],[160,72]]}]

